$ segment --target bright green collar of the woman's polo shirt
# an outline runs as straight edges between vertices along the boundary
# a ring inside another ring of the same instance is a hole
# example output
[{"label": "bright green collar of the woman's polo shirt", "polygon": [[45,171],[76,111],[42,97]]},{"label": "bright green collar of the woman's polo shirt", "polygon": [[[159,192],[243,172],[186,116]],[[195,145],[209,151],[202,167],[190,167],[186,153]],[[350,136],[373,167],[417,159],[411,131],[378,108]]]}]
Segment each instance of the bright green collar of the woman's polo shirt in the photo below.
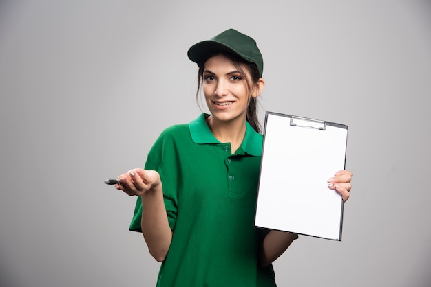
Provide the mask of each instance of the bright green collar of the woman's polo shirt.
[{"label": "bright green collar of the woman's polo shirt", "polygon": [[[197,119],[193,120],[189,124],[191,139],[194,143],[220,143],[211,133],[209,126],[205,119],[209,117],[208,114],[202,113]],[[244,150],[246,154],[253,156],[262,155],[262,139],[263,136],[257,133],[249,124],[246,122],[246,133],[244,141],[242,141],[240,149]]]}]

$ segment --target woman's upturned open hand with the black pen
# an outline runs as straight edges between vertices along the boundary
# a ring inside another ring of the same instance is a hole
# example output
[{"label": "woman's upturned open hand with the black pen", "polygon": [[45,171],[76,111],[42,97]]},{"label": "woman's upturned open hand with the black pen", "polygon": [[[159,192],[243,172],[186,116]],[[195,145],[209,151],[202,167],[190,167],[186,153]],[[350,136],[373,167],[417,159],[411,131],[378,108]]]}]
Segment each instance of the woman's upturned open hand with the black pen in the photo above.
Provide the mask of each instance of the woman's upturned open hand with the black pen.
[{"label": "woman's upturned open hand with the black pen", "polygon": [[129,196],[141,196],[160,184],[160,174],[155,170],[135,168],[118,176],[118,181],[117,190],[123,190]]}]

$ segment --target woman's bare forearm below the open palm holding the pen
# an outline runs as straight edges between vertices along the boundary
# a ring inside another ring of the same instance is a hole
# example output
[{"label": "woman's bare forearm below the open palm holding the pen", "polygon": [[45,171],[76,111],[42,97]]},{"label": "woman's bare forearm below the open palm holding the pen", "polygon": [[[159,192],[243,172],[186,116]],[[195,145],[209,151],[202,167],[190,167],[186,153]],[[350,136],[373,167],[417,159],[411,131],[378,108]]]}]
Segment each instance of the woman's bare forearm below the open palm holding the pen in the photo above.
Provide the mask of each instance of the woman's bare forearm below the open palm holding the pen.
[{"label": "woman's bare forearm below the open palm holding the pen", "polygon": [[141,195],[143,215],[140,223],[149,253],[158,261],[165,260],[171,245],[172,231],[163,202],[162,184]]}]

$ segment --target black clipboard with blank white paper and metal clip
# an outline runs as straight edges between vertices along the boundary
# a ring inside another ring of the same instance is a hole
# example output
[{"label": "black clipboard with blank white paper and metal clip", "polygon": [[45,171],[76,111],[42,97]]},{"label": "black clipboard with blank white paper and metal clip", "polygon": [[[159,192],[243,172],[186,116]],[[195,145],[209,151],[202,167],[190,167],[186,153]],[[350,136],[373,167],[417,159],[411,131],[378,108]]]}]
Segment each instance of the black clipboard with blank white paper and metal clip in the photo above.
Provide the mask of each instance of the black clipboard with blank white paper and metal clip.
[{"label": "black clipboard with blank white paper and metal clip", "polygon": [[266,112],[255,226],[341,241],[344,203],[327,180],[346,147],[344,124]]}]

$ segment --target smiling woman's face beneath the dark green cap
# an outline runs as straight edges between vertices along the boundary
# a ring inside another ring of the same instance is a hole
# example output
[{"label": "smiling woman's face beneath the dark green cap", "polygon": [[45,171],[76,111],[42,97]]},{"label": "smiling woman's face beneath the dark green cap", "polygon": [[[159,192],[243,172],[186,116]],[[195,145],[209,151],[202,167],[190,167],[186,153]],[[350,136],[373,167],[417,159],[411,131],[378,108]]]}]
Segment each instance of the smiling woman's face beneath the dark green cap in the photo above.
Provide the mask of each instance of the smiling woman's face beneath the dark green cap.
[{"label": "smiling woman's face beneath the dark green cap", "polygon": [[[244,73],[223,55],[213,56],[205,62],[202,89],[212,121],[245,122],[250,97],[260,95],[260,84],[251,82],[248,69],[244,65],[241,67]],[[251,84],[250,91],[245,77]]]}]

